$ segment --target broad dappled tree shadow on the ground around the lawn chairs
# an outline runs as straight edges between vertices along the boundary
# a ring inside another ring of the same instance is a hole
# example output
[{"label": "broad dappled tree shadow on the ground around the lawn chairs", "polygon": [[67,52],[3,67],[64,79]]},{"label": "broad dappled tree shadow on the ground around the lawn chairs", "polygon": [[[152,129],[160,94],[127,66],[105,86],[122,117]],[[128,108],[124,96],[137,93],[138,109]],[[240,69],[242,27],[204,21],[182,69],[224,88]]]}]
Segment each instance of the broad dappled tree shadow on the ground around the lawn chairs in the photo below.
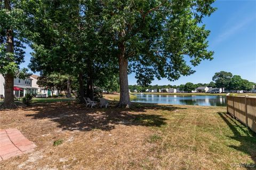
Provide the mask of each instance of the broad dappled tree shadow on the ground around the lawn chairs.
[{"label": "broad dappled tree shadow on the ground around the lawn chairs", "polygon": [[[143,114],[148,109],[153,110],[153,114]],[[91,131],[101,129],[110,131],[116,125],[125,126],[155,126],[161,127],[166,124],[166,118],[162,115],[154,114],[154,110],[177,110],[183,109],[172,106],[145,106],[141,108],[86,108],[83,105],[63,103],[44,104],[44,107],[28,107],[25,110],[34,111],[35,114],[28,114],[27,117],[33,119],[50,119],[58,123],[62,130],[69,131]]]}]

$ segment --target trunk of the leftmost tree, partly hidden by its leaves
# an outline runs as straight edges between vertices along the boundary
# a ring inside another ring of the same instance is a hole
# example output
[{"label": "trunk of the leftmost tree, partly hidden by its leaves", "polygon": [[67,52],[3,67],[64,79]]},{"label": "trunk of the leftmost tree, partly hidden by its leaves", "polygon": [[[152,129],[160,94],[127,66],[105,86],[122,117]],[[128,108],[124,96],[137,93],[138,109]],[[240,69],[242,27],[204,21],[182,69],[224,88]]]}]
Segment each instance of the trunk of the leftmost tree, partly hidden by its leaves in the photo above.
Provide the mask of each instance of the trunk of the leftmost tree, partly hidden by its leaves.
[{"label": "trunk of the leftmost tree, partly hidden by its leaves", "polygon": [[[4,0],[4,8],[11,11],[10,0]],[[7,30],[6,33],[6,52],[14,53],[14,40],[12,35],[12,30]],[[17,106],[14,103],[13,98],[13,74],[8,72],[5,76],[5,85],[4,85],[4,103],[2,104],[2,109],[14,109]]]}]

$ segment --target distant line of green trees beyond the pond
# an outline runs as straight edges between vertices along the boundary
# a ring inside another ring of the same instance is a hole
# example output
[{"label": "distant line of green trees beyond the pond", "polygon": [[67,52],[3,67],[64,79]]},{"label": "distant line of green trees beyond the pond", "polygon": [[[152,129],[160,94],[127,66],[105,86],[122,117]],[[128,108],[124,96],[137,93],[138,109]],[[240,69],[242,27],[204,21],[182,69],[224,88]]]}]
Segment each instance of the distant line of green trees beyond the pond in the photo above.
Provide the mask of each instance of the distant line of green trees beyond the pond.
[{"label": "distant line of green trees beyond the pond", "polygon": [[212,82],[210,83],[186,83],[181,85],[148,85],[148,86],[140,86],[140,85],[129,85],[129,89],[131,92],[137,90],[138,92],[146,92],[149,90],[160,90],[163,88],[179,88],[180,91],[191,92],[200,86],[207,86],[212,88],[222,88],[223,90],[244,90],[250,91],[256,87],[256,83],[249,82],[249,80],[241,78],[241,76],[231,74],[231,72],[220,71],[216,72],[212,77]]}]

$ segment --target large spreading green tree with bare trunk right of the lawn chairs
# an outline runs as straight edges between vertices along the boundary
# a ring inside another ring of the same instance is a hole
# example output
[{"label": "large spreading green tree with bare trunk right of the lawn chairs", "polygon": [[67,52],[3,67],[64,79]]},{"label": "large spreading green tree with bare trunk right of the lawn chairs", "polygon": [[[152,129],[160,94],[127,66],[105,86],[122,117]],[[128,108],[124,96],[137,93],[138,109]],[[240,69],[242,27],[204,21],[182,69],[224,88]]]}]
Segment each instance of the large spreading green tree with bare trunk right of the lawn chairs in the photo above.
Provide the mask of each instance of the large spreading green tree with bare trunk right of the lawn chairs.
[{"label": "large spreading green tree with bare trunk right of the lawn chairs", "polygon": [[131,104],[129,72],[134,71],[137,83],[146,86],[154,77],[176,80],[195,71],[185,57],[197,66],[212,59],[206,41],[210,31],[199,23],[214,12],[214,0],[103,0],[104,35],[113,41],[118,59],[120,107]]}]

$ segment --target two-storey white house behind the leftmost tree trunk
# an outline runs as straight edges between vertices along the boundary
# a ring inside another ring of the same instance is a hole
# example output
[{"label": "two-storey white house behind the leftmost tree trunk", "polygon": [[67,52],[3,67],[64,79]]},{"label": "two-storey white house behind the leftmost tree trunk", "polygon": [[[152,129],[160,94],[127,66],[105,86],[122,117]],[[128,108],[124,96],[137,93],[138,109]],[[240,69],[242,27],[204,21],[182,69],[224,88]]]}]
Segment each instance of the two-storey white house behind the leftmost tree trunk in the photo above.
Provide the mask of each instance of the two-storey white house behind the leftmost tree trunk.
[{"label": "two-storey white house behind the leftmost tree trunk", "polygon": [[[33,79],[32,78],[14,78],[14,87],[18,87],[19,91],[13,91],[13,94],[17,97],[23,97],[25,94],[30,93],[36,95],[38,92],[38,87],[33,87]],[[0,74],[0,94],[4,95],[4,84],[5,80],[2,74]]]}]

